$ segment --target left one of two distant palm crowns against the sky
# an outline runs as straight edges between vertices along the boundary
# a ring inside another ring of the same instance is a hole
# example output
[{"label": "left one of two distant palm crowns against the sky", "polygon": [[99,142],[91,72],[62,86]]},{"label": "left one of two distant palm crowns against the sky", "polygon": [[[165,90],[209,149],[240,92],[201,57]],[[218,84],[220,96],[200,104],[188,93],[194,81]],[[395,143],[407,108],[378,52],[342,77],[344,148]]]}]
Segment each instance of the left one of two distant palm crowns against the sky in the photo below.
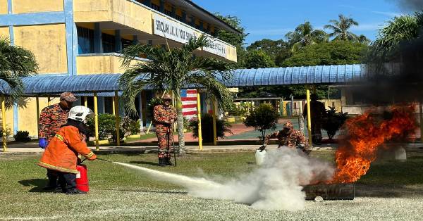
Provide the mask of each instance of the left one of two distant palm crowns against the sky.
[{"label": "left one of two distant palm crowns against the sky", "polygon": [[314,30],[309,21],[295,27],[293,32],[285,34],[288,39],[291,51],[298,51],[302,46],[325,42],[327,40],[326,32]]}]

